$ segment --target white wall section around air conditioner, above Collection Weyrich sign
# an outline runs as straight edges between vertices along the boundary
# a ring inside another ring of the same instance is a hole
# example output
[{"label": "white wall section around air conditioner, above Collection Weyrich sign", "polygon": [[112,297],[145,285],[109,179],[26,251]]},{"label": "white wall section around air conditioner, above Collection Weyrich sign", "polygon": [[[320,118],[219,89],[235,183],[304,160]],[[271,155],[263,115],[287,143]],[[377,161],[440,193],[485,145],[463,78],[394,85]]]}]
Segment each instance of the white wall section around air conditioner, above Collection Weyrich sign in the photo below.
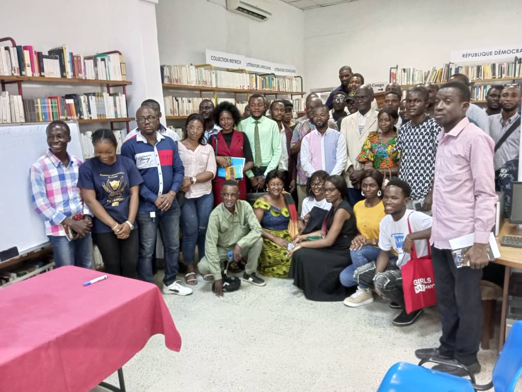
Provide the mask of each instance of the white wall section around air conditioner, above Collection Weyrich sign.
[{"label": "white wall section around air conditioner, above Collection Weyrich sign", "polygon": [[225,0],[213,3],[160,0],[156,19],[161,64],[202,64],[205,49],[213,49],[294,64],[304,78],[303,11],[271,0],[273,16],[258,22],[227,11]]}]

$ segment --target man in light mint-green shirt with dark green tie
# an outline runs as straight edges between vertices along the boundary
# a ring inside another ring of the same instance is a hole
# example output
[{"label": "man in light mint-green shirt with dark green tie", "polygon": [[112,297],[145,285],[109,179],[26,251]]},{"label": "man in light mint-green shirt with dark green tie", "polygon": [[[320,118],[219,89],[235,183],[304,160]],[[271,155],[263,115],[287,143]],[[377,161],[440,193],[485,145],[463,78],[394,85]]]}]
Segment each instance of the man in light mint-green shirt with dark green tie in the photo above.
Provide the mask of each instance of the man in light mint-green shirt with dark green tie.
[{"label": "man in light mint-green shirt with dark green tie", "polygon": [[254,168],[246,172],[253,190],[265,187],[265,178],[270,170],[277,169],[281,159],[281,137],[279,127],[274,120],[263,116],[265,100],[260,94],[253,94],[248,100],[250,117],[239,123],[238,130],[248,137]]}]

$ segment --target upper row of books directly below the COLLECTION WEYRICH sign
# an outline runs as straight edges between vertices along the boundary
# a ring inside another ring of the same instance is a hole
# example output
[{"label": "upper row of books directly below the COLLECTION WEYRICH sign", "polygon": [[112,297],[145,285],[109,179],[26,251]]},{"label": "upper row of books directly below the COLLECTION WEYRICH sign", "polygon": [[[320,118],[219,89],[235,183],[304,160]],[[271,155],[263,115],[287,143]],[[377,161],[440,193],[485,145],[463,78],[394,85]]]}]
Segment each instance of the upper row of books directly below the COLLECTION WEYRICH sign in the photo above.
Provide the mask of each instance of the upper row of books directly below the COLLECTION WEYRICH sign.
[{"label": "upper row of books directly below the COLLECTION WEYRICH sign", "polygon": [[184,86],[281,92],[299,91],[301,88],[297,79],[286,76],[259,76],[242,72],[206,70],[194,65],[161,65],[160,71],[163,83]]}]

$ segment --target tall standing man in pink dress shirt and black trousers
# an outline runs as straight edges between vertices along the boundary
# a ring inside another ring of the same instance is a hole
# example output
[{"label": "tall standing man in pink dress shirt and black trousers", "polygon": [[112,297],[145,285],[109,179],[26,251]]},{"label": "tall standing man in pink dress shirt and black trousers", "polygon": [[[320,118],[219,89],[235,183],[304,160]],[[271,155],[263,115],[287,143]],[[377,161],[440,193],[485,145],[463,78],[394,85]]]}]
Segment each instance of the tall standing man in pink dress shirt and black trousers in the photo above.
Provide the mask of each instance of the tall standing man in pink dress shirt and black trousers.
[{"label": "tall standing man in pink dress shirt and black trousers", "polygon": [[[435,98],[435,120],[443,127],[438,136],[433,185],[431,232],[437,309],[442,337],[438,348],[420,349],[418,358],[439,358],[480,372],[482,307],[480,279],[488,264],[488,238],[495,223],[494,143],[466,110],[470,92],[462,83],[449,82]],[[458,268],[449,240],[474,233],[474,244]],[[459,368],[436,365],[434,370],[465,375]]]}]

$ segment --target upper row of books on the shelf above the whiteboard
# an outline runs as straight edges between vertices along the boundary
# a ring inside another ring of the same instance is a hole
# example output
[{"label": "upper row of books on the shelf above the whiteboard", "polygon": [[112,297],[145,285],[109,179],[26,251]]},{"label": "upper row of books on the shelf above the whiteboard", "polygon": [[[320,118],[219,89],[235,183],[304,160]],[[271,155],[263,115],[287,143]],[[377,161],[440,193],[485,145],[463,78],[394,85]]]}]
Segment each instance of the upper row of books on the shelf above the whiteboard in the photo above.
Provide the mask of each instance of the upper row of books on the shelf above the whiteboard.
[{"label": "upper row of books on the shelf above the whiteboard", "polygon": [[69,52],[66,45],[47,54],[31,45],[0,47],[0,75],[126,80],[126,73],[125,59],[118,53],[84,57]]}]

